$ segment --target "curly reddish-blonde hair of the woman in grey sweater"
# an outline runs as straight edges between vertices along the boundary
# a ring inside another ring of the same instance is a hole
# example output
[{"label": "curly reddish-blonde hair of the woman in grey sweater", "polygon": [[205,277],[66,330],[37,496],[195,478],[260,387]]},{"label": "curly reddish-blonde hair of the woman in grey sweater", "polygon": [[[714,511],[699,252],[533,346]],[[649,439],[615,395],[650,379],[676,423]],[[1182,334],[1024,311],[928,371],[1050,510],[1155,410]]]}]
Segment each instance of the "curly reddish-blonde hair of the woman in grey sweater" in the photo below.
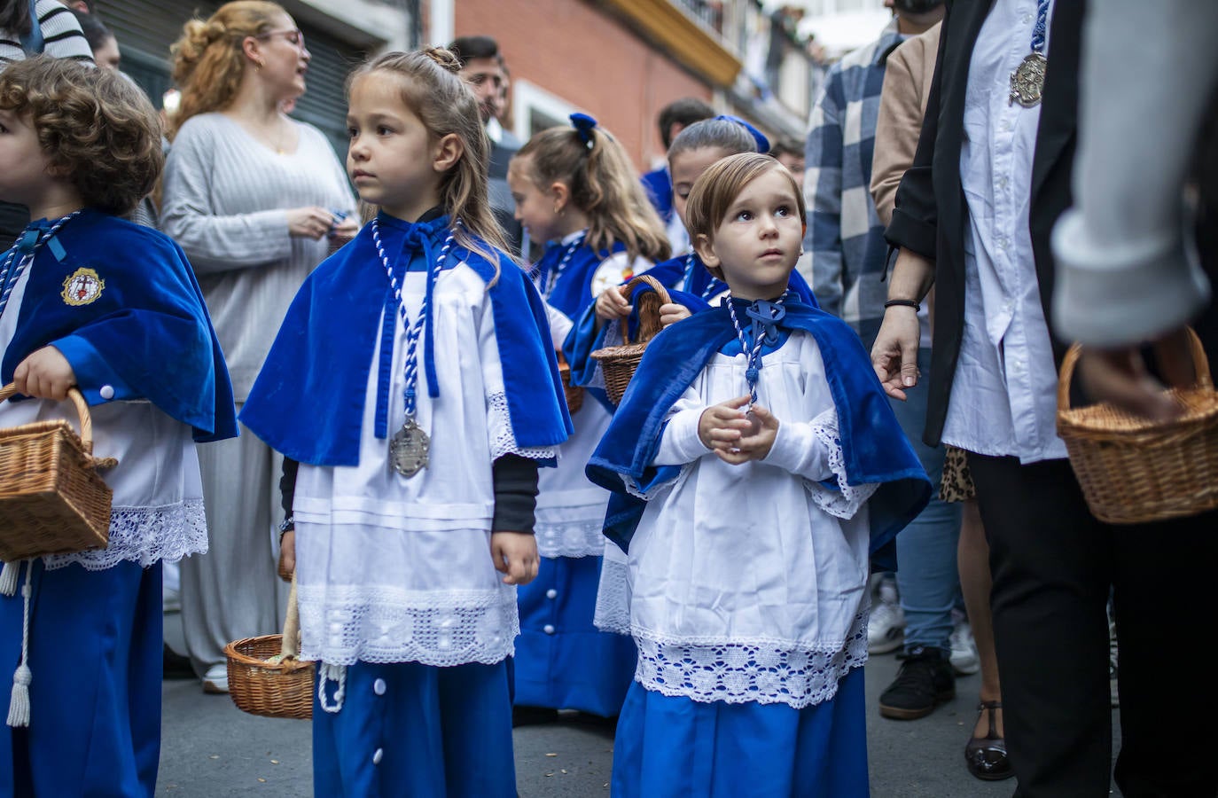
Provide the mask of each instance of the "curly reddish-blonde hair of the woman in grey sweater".
[{"label": "curly reddish-blonde hair of the woman in grey sweater", "polygon": [[267,33],[280,15],[287,12],[278,2],[236,0],[225,2],[206,22],[191,19],[183,26],[181,37],[169,46],[173,80],[181,91],[169,122],[171,139],[190,117],[222,111],[233,102],[246,69],[246,37]]}]

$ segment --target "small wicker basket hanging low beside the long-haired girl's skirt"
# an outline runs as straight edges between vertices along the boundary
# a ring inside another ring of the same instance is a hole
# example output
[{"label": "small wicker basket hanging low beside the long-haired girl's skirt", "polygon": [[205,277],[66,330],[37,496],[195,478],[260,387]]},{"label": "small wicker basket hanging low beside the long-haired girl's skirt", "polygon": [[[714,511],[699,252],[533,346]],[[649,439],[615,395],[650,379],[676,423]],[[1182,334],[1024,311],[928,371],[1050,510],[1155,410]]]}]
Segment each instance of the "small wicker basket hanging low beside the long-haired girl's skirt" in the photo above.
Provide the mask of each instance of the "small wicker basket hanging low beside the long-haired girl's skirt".
[{"label": "small wicker basket hanging low beside the long-haired girl's skirt", "polygon": [[[300,610],[292,574],[284,634],[246,637],[224,647],[229,694],[238,709],[266,718],[313,716],[313,663],[296,658],[298,637]],[[283,654],[279,663],[268,662],[276,654]]]}]

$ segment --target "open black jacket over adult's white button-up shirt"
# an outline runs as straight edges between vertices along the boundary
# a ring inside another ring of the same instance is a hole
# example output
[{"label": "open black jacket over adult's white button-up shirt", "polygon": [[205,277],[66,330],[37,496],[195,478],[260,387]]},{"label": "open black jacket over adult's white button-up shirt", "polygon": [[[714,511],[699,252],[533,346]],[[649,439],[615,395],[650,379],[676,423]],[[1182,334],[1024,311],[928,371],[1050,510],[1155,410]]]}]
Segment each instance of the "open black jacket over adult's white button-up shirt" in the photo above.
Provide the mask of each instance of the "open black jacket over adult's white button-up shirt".
[{"label": "open black jacket over adult's white button-up shirt", "polygon": [[[935,261],[934,337],[923,439],[937,446],[948,414],[965,325],[965,223],[967,206],[960,182],[965,91],[968,62],[990,0],[948,0],[939,39],[939,60],[927,100],[926,121],[914,166],[896,190],[896,208],[884,238]],[[1054,263],[1049,235],[1071,205],[1078,107],[1079,33],[1083,0],[1057,0],[1050,32],[1049,66],[1032,167],[1029,228],[1045,318],[1051,318]],[[1050,329],[1050,333],[1052,330]],[[1054,336],[1054,353],[1065,355]]]}]

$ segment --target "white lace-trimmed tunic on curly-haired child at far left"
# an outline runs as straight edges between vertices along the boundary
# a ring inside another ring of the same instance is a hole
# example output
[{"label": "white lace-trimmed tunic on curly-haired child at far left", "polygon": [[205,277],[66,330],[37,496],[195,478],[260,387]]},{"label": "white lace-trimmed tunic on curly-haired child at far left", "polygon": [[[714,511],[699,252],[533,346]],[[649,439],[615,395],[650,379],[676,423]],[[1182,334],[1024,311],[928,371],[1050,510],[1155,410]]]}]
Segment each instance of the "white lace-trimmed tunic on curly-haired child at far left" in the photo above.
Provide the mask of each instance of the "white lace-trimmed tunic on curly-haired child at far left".
[{"label": "white lace-trimmed tunic on curly-haired child at far left", "polygon": [[[0,318],[0,352],[9,348],[17,330],[29,269],[13,286]],[[199,456],[190,426],[147,401],[123,401],[89,408],[93,418],[93,453],[113,457],[118,465],[101,471],[113,490],[110,543],[106,548],[44,557],[48,569],[79,563],[104,570],[129,560],[145,568],[158,560],[177,562],[207,551],[207,520]],[[67,419],[80,430],[71,402],[24,400],[0,403],[0,426]]]}]

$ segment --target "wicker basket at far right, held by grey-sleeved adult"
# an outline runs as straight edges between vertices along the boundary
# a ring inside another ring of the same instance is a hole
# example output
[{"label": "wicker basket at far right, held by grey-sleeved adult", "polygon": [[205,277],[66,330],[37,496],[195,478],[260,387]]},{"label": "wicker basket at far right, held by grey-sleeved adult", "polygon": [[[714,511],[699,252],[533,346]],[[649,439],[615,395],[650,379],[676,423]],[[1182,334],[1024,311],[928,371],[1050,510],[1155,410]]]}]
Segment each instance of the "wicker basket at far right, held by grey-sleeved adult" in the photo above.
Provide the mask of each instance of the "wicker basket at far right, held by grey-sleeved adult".
[{"label": "wicker basket at far right, held by grey-sleeved adult", "polygon": [[1172,389],[1184,413],[1161,423],[1111,404],[1069,406],[1075,344],[1057,385],[1057,434],[1091,513],[1110,524],[1141,524],[1218,507],[1218,392],[1201,340],[1189,330],[1194,387]]}]

